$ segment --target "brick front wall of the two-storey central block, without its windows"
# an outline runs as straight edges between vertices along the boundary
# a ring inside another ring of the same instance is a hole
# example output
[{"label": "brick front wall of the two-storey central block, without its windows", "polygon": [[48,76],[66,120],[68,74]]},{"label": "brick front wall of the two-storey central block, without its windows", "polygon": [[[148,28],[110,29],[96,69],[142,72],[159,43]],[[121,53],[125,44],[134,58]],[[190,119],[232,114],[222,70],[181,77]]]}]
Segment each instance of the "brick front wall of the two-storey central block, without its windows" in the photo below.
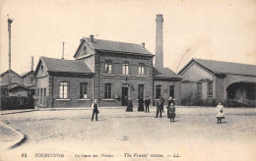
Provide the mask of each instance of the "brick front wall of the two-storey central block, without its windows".
[{"label": "brick front wall of the two-storey central block, without its windows", "polygon": [[[99,58],[100,57],[100,58]],[[100,106],[121,106],[122,101],[122,86],[128,85],[128,97],[133,100],[134,106],[138,105],[138,86],[144,85],[144,97],[147,95],[153,99],[153,59],[152,57],[142,57],[135,55],[113,54],[113,53],[100,53],[99,57],[96,57],[96,72],[98,76],[98,90],[99,90],[99,105]],[[112,75],[105,74],[105,61],[112,61]],[[122,76],[122,63],[129,63],[129,75]],[[138,76],[139,63],[145,64],[145,76]],[[97,78],[95,82],[97,81]],[[104,86],[105,83],[112,84],[112,98],[104,99]],[[96,84],[95,84],[96,85]],[[131,85],[133,85],[134,90]],[[96,85],[97,87],[97,85]],[[114,96],[118,95],[119,100]]]}]

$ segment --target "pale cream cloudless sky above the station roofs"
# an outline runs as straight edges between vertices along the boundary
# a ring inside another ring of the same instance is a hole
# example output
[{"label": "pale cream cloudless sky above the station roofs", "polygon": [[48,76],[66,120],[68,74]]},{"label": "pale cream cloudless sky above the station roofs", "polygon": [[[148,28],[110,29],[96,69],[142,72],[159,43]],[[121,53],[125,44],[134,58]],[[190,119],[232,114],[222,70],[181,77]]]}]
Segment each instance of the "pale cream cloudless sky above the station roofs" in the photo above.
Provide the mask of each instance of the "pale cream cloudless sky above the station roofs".
[{"label": "pale cream cloudless sky above the station roofs", "polygon": [[[156,52],[156,15],[163,15],[163,66],[178,72],[192,58],[256,65],[255,0],[3,0],[0,73],[8,70],[12,23],[12,70],[35,69],[40,56],[74,59],[80,39],[146,43]],[[189,50],[187,50],[189,49]],[[188,52],[187,52],[188,51]]]}]

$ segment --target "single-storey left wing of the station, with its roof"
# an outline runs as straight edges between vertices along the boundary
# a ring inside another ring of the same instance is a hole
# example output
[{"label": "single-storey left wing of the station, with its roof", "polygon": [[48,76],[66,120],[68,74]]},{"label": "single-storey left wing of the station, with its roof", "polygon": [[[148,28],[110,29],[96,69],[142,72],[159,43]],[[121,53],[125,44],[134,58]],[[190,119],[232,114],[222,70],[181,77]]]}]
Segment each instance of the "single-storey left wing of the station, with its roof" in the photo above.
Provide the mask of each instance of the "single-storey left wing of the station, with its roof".
[{"label": "single-storey left wing of the station, with its roof", "polygon": [[35,69],[36,105],[89,106],[93,97],[93,76],[85,62],[40,57]]}]

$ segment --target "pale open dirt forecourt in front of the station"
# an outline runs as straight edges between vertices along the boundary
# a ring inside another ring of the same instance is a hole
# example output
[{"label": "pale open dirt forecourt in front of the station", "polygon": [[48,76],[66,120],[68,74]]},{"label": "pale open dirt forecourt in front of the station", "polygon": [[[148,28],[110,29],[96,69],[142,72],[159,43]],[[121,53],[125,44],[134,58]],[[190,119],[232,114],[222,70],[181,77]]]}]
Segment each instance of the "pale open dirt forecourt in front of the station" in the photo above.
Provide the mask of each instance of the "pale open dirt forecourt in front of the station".
[{"label": "pale open dirt forecourt in front of the station", "polygon": [[1,121],[27,141],[1,150],[1,159],[256,160],[256,108],[226,108],[223,124],[215,108],[176,107],[174,123],[164,110],[155,118],[155,107],[150,113],[101,108],[97,122],[91,109],[3,115]]}]

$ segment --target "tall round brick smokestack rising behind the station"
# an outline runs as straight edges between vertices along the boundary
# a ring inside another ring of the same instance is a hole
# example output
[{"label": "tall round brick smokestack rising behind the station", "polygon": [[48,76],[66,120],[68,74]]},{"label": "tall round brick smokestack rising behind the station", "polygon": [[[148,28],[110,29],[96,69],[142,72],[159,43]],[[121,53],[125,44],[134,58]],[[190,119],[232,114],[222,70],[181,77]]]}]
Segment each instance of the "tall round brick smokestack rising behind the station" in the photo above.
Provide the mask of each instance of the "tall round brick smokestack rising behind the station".
[{"label": "tall round brick smokestack rising behind the station", "polygon": [[162,15],[157,15],[157,34],[156,34],[156,62],[155,66],[157,68],[163,68],[163,53],[162,53]]}]

